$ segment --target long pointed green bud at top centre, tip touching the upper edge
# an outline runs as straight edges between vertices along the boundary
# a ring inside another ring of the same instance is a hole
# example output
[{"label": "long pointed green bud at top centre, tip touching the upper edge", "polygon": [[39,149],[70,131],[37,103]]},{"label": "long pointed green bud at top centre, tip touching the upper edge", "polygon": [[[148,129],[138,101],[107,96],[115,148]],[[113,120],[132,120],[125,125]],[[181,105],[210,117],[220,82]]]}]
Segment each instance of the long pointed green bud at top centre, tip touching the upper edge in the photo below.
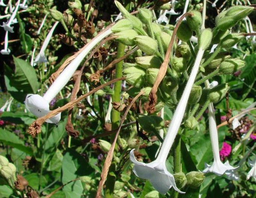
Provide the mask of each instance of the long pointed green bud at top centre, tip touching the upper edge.
[{"label": "long pointed green bud at top centre, tip touching the upper edge", "polygon": [[131,15],[123,6],[120,2],[115,1],[115,5],[117,6],[117,8],[120,10],[120,12],[123,14],[123,16],[128,19],[132,25],[133,28],[135,28],[136,30],[138,30],[139,32],[144,31],[143,30],[143,25],[141,20],[139,20],[136,16]]}]

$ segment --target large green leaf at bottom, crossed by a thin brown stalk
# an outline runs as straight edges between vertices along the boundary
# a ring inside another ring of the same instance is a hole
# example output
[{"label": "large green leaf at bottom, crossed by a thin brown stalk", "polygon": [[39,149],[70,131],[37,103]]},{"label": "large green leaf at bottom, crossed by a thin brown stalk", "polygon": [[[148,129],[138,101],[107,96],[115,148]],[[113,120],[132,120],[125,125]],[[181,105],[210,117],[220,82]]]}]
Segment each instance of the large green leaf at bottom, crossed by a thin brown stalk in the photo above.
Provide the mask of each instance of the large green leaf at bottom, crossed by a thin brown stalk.
[{"label": "large green leaf at bottom, crossed by a thin brown stalk", "polygon": [[[93,172],[92,167],[84,158],[72,149],[67,149],[62,160],[62,183],[68,183],[80,176],[89,175]],[[83,195],[83,185],[80,180],[65,185],[63,191],[66,198],[80,198]]]}]

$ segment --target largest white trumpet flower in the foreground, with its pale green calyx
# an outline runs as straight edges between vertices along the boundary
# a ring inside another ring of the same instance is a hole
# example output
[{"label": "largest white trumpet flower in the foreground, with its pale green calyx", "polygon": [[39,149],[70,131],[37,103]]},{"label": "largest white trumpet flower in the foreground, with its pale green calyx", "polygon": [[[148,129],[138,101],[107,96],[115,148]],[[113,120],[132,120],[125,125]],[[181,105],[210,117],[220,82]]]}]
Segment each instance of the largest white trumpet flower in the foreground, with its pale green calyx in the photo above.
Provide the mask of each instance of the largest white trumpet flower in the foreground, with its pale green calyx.
[{"label": "largest white trumpet flower in the foreground, with its pale green calyx", "polygon": [[148,179],[154,188],[162,194],[166,194],[166,192],[172,188],[172,186],[176,191],[184,193],[177,188],[173,175],[167,170],[166,159],[181,125],[183,115],[186,110],[186,105],[188,103],[188,98],[194,84],[195,77],[197,76],[198,68],[200,66],[204,51],[210,45],[211,39],[211,30],[204,29],[201,32],[201,42],[194,66],[192,68],[181,99],[179,100],[175,113],[173,114],[172,121],[169,125],[166,137],[164,138],[164,142],[161,146],[157,159],[148,164],[138,162],[133,153],[134,149],[130,151],[130,160],[134,163],[133,172],[135,175],[142,179]]}]

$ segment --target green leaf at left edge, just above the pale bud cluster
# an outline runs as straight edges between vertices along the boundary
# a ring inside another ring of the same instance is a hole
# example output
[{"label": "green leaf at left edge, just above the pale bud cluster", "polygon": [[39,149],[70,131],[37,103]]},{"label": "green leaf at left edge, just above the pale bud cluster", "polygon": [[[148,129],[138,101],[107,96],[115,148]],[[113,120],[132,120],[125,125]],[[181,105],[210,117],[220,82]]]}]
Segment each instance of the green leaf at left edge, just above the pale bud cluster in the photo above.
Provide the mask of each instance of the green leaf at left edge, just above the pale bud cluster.
[{"label": "green leaf at left edge, just above the pale bud cluster", "polygon": [[24,142],[20,140],[19,137],[13,132],[0,129],[0,141],[29,155],[33,155],[32,148],[24,146]]}]

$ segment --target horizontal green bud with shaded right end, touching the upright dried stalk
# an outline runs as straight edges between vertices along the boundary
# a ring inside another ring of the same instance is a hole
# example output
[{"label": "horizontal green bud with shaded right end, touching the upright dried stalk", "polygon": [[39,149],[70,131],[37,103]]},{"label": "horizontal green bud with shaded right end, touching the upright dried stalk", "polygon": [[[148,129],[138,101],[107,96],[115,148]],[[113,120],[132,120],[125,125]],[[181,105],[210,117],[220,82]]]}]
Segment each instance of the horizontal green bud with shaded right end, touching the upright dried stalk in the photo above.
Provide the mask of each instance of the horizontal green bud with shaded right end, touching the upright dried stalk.
[{"label": "horizontal green bud with shaded right end, touching the upright dried stalk", "polygon": [[156,56],[143,56],[143,57],[136,57],[136,63],[138,66],[147,69],[147,68],[159,68],[161,66],[161,60]]}]

